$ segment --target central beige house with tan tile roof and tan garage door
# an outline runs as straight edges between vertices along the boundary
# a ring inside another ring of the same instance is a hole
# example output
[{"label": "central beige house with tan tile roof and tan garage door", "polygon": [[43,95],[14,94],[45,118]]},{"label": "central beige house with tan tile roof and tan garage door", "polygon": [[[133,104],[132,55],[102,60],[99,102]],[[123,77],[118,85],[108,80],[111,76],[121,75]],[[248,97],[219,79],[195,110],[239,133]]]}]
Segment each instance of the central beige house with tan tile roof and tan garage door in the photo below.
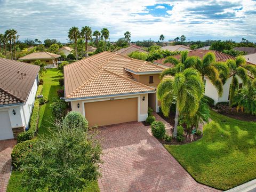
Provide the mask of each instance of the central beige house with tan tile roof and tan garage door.
[{"label": "central beige house with tan tile roof and tan garage door", "polygon": [[159,110],[156,87],[164,70],[153,63],[101,52],[64,67],[65,101],[89,125],[145,121]]}]

